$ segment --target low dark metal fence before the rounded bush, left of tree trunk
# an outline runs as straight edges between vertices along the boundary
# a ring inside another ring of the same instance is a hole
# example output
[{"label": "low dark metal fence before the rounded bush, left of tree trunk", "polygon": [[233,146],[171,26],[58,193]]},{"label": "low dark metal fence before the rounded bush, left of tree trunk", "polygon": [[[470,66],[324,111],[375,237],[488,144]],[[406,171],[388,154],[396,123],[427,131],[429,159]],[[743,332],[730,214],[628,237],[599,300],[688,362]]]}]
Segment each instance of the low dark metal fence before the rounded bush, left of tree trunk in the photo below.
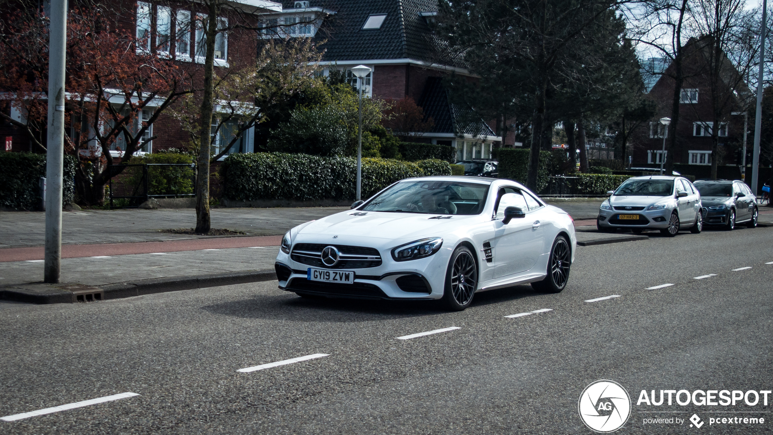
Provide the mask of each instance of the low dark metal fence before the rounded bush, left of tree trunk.
[{"label": "low dark metal fence before the rounded bush, left of tree trunk", "polygon": [[[151,198],[196,196],[196,165],[108,165],[110,208],[137,208]],[[116,201],[117,200],[117,201]],[[117,205],[116,205],[117,204]]]}]

